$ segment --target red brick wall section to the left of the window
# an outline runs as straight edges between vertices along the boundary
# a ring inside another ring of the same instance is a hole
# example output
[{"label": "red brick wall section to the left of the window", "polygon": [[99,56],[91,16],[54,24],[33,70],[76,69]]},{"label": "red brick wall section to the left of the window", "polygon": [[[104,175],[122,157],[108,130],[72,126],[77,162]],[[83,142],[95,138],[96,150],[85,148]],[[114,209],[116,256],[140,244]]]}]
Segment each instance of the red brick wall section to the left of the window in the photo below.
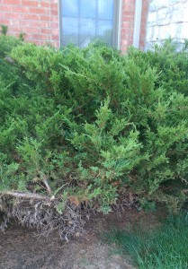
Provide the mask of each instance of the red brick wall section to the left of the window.
[{"label": "red brick wall section to the left of the window", "polygon": [[0,24],[8,25],[8,34],[39,45],[59,46],[58,0],[0,0]]}]

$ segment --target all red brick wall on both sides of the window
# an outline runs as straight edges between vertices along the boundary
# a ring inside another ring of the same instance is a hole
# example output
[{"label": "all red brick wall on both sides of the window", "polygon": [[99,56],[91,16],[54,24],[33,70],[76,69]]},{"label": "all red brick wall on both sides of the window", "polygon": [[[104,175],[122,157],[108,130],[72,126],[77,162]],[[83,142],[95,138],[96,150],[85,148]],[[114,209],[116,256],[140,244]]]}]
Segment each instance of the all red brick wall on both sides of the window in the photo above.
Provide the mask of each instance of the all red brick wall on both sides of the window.
[{"label": "all red brick wall on both sides of the window", "polygon": [[[121,0],[120,48],[126,51],[132,45],[135,0]],[[144,48],[148,0],[143,0],[140,48]],[[42,45],[59,47],[58,0],[0,0],[0,24],[8,25],[8,34]]]}]

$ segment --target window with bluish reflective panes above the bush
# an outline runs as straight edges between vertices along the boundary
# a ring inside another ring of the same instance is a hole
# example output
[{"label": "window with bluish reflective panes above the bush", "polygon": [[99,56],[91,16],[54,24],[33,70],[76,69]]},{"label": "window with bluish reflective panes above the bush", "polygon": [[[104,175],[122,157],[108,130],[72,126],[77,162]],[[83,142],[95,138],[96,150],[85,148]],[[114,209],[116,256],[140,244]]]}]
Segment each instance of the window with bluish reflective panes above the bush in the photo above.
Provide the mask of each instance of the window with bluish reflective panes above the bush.
[{"label": "window with bluish reflective panes above the bush", "polygon": [[100,39],[116,47],[118,4],[119,0],[60,0],[61,45],[84,48]]}]

